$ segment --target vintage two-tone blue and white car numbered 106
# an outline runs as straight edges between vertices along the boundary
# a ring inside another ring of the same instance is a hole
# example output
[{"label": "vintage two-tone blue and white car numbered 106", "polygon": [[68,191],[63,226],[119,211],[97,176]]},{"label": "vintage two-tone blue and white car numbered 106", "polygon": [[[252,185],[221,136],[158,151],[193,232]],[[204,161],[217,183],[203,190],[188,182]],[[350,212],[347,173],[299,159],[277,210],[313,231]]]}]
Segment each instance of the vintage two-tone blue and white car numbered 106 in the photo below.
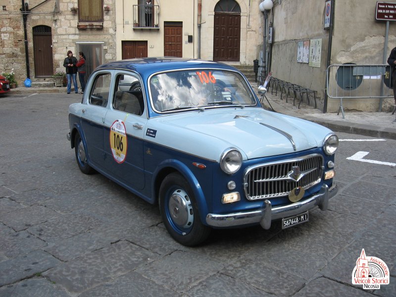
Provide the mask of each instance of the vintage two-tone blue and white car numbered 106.
[{"label": "vintage two-tone blue and white car numbered 106", "polygon": [[[265,86],[260,87],[265,92]],[[183,58],[107,63],[69,107],[78,166],[149,203],[179,243],[211,228],[273,221],[288,228],[325,210],[338,138],[320,125],[264,110],[232,66]]]}]

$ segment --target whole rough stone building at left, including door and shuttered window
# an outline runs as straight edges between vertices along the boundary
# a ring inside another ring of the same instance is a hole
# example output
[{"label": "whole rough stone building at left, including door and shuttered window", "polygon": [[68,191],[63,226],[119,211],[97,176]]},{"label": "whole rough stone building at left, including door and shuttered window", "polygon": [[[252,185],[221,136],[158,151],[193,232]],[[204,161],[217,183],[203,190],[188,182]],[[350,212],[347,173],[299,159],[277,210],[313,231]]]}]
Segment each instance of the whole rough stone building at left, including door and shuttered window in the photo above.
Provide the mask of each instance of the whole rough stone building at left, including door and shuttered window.
[{"label": "whole rough stone building at left, including door and shuttered window", "polygon": [[[86,51],[91,68],[116,58],[113,0],[24,2],[27,54],[22,1],[0,0],[0,71],[13,69],[19,86],[27,78],[28,68],[32,82],[53,81],[56,71],[64,71],[63,60],[68,50],[77,57],[78,51]],[[94,20],[90,19],[92,3],[96,7]]]}]

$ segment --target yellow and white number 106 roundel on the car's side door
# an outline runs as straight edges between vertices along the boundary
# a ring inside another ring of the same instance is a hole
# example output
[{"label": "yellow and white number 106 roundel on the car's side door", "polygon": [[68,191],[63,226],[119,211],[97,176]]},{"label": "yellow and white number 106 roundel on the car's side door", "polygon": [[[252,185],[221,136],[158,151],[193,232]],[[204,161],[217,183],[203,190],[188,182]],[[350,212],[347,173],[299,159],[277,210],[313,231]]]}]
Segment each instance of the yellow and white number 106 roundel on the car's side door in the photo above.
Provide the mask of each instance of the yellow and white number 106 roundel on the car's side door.
[{"label": "yellow and white number 106 roundel on the car's side door", "polygon": [[125,124],[116,120],[110,127],[110,148],[114,160],[117,163],[125,161],[127,156],[127,133]]}]

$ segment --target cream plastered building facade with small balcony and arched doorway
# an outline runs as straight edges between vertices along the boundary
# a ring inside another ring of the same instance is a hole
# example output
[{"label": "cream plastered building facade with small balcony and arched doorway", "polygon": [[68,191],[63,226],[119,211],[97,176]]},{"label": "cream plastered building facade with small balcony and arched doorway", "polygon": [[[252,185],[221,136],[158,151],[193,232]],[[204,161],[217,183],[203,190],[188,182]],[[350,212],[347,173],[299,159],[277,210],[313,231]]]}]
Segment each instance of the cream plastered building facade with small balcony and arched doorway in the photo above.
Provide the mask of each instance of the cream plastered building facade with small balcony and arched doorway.
[{"label": "cream plastered building facade with small balcony and arched doorway", "polygon": [[152,0],[145,24],[146,0],[115,0],[117,59],[177,55],[252,65],[262,45],[260,1]]}]

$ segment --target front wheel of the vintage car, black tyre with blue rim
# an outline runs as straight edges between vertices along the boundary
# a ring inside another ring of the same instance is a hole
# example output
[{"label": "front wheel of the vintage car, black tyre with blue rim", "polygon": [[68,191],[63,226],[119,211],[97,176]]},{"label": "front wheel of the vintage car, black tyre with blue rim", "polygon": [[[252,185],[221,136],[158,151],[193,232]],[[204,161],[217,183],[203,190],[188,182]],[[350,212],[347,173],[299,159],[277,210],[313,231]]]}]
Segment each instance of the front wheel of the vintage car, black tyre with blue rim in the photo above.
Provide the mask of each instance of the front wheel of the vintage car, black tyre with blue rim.
[{"label": "front wheel of the vintage car, black tyre with blue rim", "polygon": [[184,246],[204,242],[211,229],[201,223],[198,205],[188,182],[178,173],[171,173],[159,189],[159,208],[169,234]]}]

